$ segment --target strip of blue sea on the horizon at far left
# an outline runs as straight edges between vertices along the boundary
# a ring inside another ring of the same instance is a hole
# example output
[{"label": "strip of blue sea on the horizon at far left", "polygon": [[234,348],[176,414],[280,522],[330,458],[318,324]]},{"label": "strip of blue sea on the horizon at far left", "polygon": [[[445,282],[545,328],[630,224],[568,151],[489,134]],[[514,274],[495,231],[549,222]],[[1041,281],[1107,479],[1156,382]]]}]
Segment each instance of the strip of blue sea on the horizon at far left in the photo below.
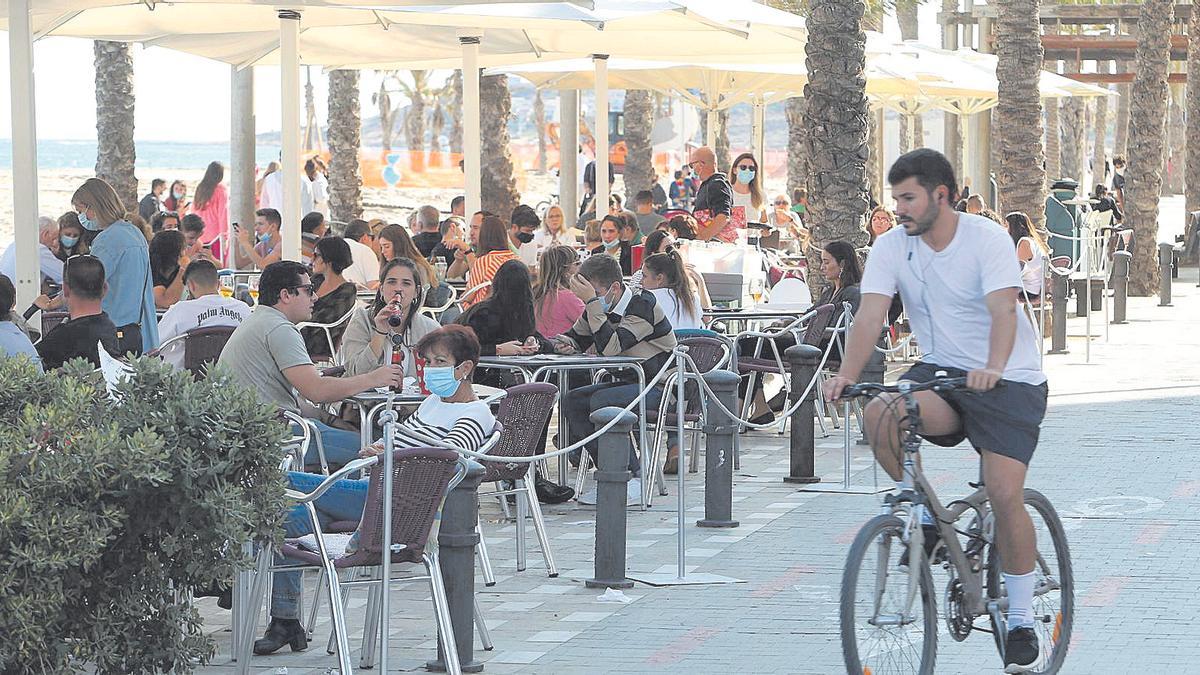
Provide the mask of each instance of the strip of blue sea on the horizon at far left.
[{"label": "strip of blue sea on the horizon at far left", "polygon": [[[138,168],[204,169],[211,161],[229,166],[228,143],[181,143],[174,141],[136,141]],[[258,166],[278,160],[277,144],[259,143],[254,148]],[[95,141],[42,139],[37,142],[37,168],[92,169],[96,167]],[[0,138],[0,169],[12,168],[12,141]],[[168,177],[163,177],[168,178]]]}]

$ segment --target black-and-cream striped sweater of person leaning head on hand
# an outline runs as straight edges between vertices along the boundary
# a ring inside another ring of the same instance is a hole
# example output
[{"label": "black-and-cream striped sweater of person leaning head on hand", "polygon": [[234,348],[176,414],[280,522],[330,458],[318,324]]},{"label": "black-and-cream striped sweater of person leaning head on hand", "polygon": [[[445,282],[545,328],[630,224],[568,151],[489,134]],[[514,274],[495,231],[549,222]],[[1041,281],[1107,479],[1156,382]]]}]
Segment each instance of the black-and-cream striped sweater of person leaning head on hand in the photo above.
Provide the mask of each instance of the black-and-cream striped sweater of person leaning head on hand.
[{"label": "black-and-cream striped sweater of person leaning head on hand", "polygon": [[[628,303],[625,297],[629,297]],[[654,294],[628,286],[622,300],[608,313],[600,309],[599,300],[587,303],[583,316],[558,339],[569,341],[581,352],[594,346],[599,356],[644,359],[642,371],[647,380],[671,360],[671,350],[676,346],[671,322]]]}]

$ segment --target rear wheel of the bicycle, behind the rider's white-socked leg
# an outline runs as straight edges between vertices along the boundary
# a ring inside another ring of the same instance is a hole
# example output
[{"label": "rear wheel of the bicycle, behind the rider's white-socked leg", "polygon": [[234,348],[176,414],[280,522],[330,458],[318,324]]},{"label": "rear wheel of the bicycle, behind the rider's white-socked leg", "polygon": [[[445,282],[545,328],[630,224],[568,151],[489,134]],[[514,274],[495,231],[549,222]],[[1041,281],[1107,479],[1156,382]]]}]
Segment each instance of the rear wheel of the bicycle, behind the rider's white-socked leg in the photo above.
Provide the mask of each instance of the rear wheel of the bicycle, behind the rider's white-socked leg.
[{"label": "rear wheel of the bicycle, behind the rider's white-socked leg", "polygon": [[[1033,520],[1037,536],[1037,585],[1033,591],[1033,631],[1042,647],[1043,665],[1032,673],[1057,673],[1070,647],[1070,632],[1075,623],[1075,575],[1070,566],[1067,533],[1058,520],[1058,512],[1042,492],[1026,488],[1025,510]],[[988,597],[1007,596],[1000,551],[989,546]],[[997,649],[1003,647],[1003,628],[991,622]]]}]

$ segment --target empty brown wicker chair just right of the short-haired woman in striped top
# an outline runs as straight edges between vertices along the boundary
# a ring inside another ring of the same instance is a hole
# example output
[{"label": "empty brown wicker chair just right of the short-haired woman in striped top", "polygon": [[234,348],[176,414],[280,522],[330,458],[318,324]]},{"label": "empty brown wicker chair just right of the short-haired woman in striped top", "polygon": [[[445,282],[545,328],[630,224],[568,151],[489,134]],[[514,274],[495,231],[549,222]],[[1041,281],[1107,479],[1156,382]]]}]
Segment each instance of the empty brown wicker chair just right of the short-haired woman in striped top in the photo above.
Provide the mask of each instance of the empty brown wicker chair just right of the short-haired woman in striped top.
[{"label": "empty brown wicker chair just right of the short-haired woman in striped top", "polygon": [[[538,441],[541,440],[542,429],[546,428],[557,398],[558,387],[544,382],[510,387],[508,395],[500,401],[500,411],[497,416],[497,422],[504,426],[504,431],[499,442],[487,454],[497,458],[528,458],[536,454]],[[533,516],[534,533],[541,545],[541,555],[546,560],[546,572],[550,577],[558,577],[554,556],[550,550],[550,537],[546,534],[546,521],[541,515],[538,494],[534,491],[534,464],[484,461],[482,465],[487,470],[487,473],[484,474],[484,482],[494,482],[496,490],[480,492],[481,497],[516,496],[517,572],[526,569],[524,520],[528,513]],[[514,486],[504,488],[503,482],[512,482]],[[491,580],[493,579],[491,563],[482,532],[480,534],[480,558],[484,563],[484,575],[485,579]]]}]

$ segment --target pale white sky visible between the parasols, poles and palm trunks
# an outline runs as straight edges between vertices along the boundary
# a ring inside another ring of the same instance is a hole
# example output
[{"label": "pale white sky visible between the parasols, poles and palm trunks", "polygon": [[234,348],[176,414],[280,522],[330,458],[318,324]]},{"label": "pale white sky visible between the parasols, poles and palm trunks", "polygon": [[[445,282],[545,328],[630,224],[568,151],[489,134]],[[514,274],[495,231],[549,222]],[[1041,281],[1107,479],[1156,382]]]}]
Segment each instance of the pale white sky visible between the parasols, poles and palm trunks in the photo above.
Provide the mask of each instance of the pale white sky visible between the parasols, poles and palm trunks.
[{"label": "pale white sky visible between the parasols, poles and palm trunks", "polygon": [[[920,8],[922,40],[936,43],[937,7]],[[890,17],[884,34],[899,38]],[[90,40],[47,37],[34,46],[37,137],[41,139],[95,139],[95,68]],[[139,141],[227,142],[229,139],[230,66],[161,47],[133,48],[134,138]],[[445,73],[437,73],[442,79]],[[12,137],[8,78],[8,34],[0,32],[0,138]],[[301,86],[305,74],[301,73]],[[326,79],[312,68],[317,115],[325,124]],[[373,117],[371,95],[379,76],[364,71],[360,80],[362,117]],[[254,113],[258,132],[280,129],[280,70],[254,68]],[[396,102],[397,97],[394,96]],[[402,102],[401,102],[402,104]],[[301,108],[301,124],[304,110]]]}]

